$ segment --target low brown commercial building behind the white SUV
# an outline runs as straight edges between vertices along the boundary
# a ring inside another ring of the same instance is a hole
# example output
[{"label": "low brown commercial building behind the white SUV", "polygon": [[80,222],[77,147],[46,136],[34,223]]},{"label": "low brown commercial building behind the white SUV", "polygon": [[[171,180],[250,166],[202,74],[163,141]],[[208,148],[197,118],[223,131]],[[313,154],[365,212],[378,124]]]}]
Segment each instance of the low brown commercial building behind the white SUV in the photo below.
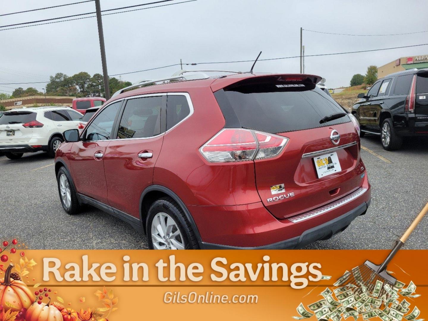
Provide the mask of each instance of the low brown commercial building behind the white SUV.
[{"label": "low brown commercial building behind the white SUV", "polygon": [[20,107],[39,107],[39,106],[71,106],[73,98],[68,96],[29,96],[21,98],[12,98],[0,100],[0,105],[6,107],[6,110]]}]

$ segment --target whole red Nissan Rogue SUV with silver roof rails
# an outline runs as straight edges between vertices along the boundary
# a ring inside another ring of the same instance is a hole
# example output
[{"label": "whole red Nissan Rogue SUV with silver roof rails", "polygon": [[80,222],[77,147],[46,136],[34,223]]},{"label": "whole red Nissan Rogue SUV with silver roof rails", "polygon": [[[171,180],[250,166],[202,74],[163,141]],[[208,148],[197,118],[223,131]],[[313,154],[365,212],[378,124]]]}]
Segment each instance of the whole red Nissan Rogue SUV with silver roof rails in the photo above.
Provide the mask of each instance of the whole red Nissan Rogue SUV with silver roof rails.
[{"label": "whole red Nissan Rogue SUV with silver roof rails", "polygon": [[309,74],[185,74],[116,92],[55,172],[64,210],[95,206],[152,249],[300,248],[365,214],[357,120]]}]

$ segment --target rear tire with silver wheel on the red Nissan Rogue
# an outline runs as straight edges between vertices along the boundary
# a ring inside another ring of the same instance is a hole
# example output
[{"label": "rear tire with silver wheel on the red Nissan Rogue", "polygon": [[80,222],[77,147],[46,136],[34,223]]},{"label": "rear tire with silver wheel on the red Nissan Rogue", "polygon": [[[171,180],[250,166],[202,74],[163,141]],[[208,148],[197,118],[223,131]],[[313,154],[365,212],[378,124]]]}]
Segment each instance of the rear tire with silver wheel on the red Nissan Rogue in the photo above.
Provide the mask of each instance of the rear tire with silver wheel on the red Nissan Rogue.
[{"label": "rear tire with silver wheel on the red Nissan Rogue", "polygon": [[[162,224],[163,221],[163,224]],[[147,243],[152,250],[196,250],[195,233],[184,211],[173,199],[163,197],[149,208]]]}]

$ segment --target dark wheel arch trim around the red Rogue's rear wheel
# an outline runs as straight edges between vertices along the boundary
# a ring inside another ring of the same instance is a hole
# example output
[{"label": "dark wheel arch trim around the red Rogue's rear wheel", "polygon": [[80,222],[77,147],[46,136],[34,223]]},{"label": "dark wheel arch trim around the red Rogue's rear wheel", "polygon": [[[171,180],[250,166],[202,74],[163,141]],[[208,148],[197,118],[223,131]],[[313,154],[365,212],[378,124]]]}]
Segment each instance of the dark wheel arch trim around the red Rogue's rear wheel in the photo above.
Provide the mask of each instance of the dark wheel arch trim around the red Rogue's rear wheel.
[{"label": "dark wheel arch trim around the red Rogue's rear wheel", "polygon": [[146,231],[146,218],[147,212],[149,211],[150,205],[152,205],[155,200],[160,199],[162,197],[171,197],[177,204],[181,207],[184,214],[187,217],[187,220],[190,222],[190,226],[192,226],[193,232],[196,235],[196,239],[198,243],[202,242],[201,235],[199,234],[199,230],[196,226],[195,220],[193,220],[192,214],[187,209],[184,202],[175,194],[172,190],[162,185],[150,185],[143,190],[140,197],[140,221],[143,227],[143,231],[147,234]]}]

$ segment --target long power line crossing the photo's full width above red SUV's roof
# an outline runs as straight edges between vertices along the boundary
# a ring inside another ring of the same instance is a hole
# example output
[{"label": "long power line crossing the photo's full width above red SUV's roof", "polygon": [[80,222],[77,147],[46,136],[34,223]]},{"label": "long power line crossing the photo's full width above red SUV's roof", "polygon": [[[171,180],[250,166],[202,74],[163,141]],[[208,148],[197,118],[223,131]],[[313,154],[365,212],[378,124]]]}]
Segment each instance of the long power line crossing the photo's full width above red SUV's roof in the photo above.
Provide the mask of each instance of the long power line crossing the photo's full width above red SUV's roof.
[{"label": "long power line crossing the photo's full width above red SUV's roof", "polygon": [[[419,47],[419,46],[426,46],[427,44],[420,44],[420,45],[410,45],[410,46],[401,46],[401,47],[392,47],[392,48],[382,48],[382,49],[370,49],[370,50],[360,50],[360,51],[348,51],[348,52],[338,52],[338,53],[319,53],[315,55],[306,55],[305,57],[316,57],[316,56],[332,56],[332,55],[342,55],[347,53],[361,53],[361,52],[371,52],[371,51],[382,51],[382,50],[391,50],[391,49],[400,49],[400,48],[410,48],[410,47]],[[279,59],[290,59],[290,58],[299,58],[300,56],[289,56],[289,57],[279,57],[279,58],[266,58],[266,59],[259,59],[259,61],[270,61],[270,60],[279,60]],[[183,65],[204,65],[204,64],[218,64],[218,63],[235,63],[235,62],[254,62],[254,59],[252,60],[236,60],[236,61],[217,61],[217,62],[193,62],[193,63],[183,63]],[[172,64],[172,65],[166,65],[161,67],[155,67],[155,68],[149,68],[144,70],[137,70],[137,71],[129,71],[129,72],[123,72],[120,74],[112,74],[109,75],[109,77],[114,76],[120,76],[124,74],[135,74],[137,72],[143,72],[143,71],[151,71],[161,68],[168,68],[173,66],[179,66],[179,63]],[[90,77],[90,78],[84,78],[84,79],[66,79],[66,80],[53,80],[53,81],[39,81],[39,82],[32,82],[32,83],[51,83],[51,82],[65,82],[65,81],[74,81],[74,80],[91,80],[91,79],[98,79],[102,77]],[[25,84],[31,84],[29,83],[0,83],[0,85],[25,85]]]}]

